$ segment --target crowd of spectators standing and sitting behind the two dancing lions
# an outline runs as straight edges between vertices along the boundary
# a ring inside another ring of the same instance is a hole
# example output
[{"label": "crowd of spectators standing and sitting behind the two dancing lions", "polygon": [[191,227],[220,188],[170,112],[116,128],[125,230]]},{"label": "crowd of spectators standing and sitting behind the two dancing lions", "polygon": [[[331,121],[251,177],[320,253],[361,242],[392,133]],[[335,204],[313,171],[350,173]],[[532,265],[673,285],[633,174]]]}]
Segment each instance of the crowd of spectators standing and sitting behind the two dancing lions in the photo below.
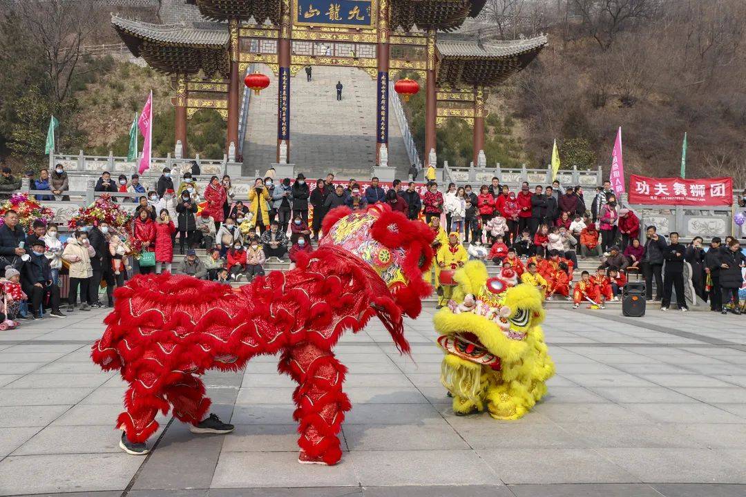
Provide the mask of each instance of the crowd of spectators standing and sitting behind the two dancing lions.
[{"label": "crowd of spectators standing and sitting behind the two dancing lions", "polygon": [[[431,281],[440,295],[444,289],[439,285],[439,269],[463,265],[470,256],[539,286],[547,299],[562,296],[575,306],[579,300],[603,306],[618,299],[630,274],[642,276],[648,300],[667,310],[675,290],[677,307],[686,311],[683,275],[688,262],[695,293],[709,300],[713,311],[740,312],[738,289],[745,259],[737,239],[729,237],[721,246],[715,237],[709,247],[703,247],[703,239],[696,237],[684,245],[677,233],[666,239],[651,226],[645,228],[643,242],[638,216],[619,205],[608,181],[590,197],[581,186],[562,188],[558,181],[533,189],[523,183],[518,191],[511,191],[498,177],[479,186],[450,183],[445,191],[430,179],[420,193],[414,182],[395,180],[386,190],[373,177],[364,188],[354,179],[335,183],[333,174],[310,188],[304,174],[294,180],[275,180],[274,169],[269,169],[254,181],[245,199],[239,199],[228,175],[210,177],[201,191],[192,177],[198,170],[186,171],[178,187],[171,172],[163,168],[150,189],[137,174],[119,175],[116,181],[108,172],[101,174],[95,191],[134,194],[120,199],[137,202],[134,219],[125,228],[83,226],[61,243],[57,227],[34,225],[27,238],[17,227],[17,216],[14,223],[13,212],[6,214],[0,227],[0,263],[19,270],[22,291],[32,301],[31,317],[40,311],[40,302],[52,308],[52,315],[61,314],[58,283],[63,267],[69,275],[67,311],[112,306],[113,288],[134,273],[172,270],[176,250],[183,257],[182,273],[219,282],[251,281],[264,274],[270,260],[289,260],[292,267],[299,252],[313,252],[330,209],[344,205],[361,210],[374,203],[387,203],[410,219],[423,218],[436,232],[436,278]],[[426,178],[431,176],[430,171],[425,173]],[[61,165],[51,175],[42,170],[29,180],[33,189],[49,191],[37,192],[41,201],[61,199],[68,190]],[[4,168],[0,194],[18,187]],[[128,256],[135,241],[147,253],[139,260]],[[204,259],[198,257],[200,249],[206,251]],[[43,258],[34,259],[37,252]],[[586,259],[598,261],[598,270],[581,274],[571,291],[578,261]],[[107,303],[98,300],[101,282],[107,284]]]}]

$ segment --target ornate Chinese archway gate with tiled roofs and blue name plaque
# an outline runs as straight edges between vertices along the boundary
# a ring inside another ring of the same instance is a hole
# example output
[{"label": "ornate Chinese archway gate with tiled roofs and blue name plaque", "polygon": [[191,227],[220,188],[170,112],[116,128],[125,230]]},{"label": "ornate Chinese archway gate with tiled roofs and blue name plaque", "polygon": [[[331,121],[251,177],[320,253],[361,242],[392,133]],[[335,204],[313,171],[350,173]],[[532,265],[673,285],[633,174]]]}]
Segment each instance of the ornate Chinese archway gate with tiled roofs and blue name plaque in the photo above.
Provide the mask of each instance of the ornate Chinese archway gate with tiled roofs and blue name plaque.
[{"label": "ornate Chinese archway gate with tiled roofs and blue name plaque", "polygon": [[[291,150],[291,78],[304,66],[351,66],[377,80],[377,151],[389,140],[389,82],[402,72],[424,81],[425,164],[436,127],[463,118],[474,128],[474,164],[484,147],[488,89],[520,71],[545,36],[483,42],[449,34],[475,17],[485,0],[184,0],[201,19],[155,25],[113,15],[136,57],[172,75],[175,140],[186,156],[186,122],[199,109],[228,121],[226,150],[239,139],[239,89],[250,64],[278,78],[278,145]],[[195,10],[196,12],[196,10]],[[388,146],[388,145],[387,145]]]}]

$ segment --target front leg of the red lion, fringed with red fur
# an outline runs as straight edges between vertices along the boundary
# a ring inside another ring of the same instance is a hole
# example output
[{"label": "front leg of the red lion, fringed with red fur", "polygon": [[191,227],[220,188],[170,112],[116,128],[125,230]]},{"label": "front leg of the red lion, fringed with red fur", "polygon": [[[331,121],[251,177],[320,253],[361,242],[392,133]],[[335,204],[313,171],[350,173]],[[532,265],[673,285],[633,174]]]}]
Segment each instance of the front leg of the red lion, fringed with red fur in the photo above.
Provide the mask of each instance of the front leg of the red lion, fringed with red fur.
[{"label": "front leg of the red lion, fringed with red fur", "polygon": [[279,369],[298,382],[293,417],[300,423],[300,463],[336,464],[342,458],[339,430],[350,400],[342,392],[347,368],[333,352],[307,342],[283,354]]}]

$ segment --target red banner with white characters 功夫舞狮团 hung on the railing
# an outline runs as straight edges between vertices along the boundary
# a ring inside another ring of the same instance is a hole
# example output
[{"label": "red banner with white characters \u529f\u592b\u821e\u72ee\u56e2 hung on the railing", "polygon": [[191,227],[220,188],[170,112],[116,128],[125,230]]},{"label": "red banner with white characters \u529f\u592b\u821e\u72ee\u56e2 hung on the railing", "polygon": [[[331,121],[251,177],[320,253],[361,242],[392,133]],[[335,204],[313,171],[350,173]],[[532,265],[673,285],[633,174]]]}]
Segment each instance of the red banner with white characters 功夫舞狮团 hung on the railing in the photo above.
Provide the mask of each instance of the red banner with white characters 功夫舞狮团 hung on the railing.
[{"label": "red banner with white characters \u529f\u592b\u821e\u72ee\u56e2 hung on the railing", "polygon": [[630,176],[630,203],[679,206],[730,206],[733,178],[651,178]]}]

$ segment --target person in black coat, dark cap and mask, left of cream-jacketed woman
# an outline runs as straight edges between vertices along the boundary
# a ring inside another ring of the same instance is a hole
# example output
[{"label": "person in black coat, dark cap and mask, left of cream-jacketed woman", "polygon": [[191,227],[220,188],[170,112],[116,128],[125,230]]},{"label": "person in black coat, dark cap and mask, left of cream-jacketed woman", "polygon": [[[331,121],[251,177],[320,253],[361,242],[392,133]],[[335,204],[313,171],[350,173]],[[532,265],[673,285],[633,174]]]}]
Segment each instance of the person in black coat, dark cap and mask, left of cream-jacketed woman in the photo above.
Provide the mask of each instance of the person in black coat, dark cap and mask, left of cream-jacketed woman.
[{"label": "person in black coat, dark cap and mask, left of cream-jacketed woman", "polygon": [[[28,262],[23,266],[21,273],[21,287],[24,293],[28,295],[31,313],[35,320],[41,319],[42,306],[45,301],[48,301],[49,306],[51,306],[51,313],[49,314],[51,317],[66,317],[65,314],[60,312],[60,287],[54,284],[49,259],[44,256],[44,249],[43,240],[34,241],[34,244],[31,245]],[[81,307],[81,310],[84,309]]]}]

